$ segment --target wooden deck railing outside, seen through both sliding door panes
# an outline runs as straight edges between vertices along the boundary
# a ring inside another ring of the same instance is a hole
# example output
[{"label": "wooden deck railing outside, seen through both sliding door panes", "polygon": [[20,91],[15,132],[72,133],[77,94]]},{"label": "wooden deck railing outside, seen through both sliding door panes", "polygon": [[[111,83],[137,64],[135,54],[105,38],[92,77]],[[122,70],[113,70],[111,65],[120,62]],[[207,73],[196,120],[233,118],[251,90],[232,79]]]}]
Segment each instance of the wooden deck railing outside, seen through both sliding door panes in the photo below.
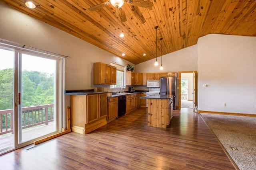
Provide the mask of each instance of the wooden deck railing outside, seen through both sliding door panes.
[{"label": "wooden deck railing outside, seen through both sliding door panes", "polygon": [[[54,104],[23,107],[22,129],[54,121]],[[0,135],[13,133],[13,109],[0,110]]]}]

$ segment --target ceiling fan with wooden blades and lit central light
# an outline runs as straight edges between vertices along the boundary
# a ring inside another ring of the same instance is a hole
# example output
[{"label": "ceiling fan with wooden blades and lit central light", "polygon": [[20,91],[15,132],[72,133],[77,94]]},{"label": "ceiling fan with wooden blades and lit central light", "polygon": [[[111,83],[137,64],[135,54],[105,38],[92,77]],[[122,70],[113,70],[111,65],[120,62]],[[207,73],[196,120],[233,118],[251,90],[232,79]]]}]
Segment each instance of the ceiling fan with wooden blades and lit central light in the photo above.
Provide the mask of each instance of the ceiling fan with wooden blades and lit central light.
[{"label": "ceiling fan with wooden blades and lit central light", "polygon": [[92,6],[90,8],[88,8],[89,11],[95,11],[98,10],[100,8],[103,8],[104,6],[108,6],[108,5],[112,5],[115,8],[118,9],[118,16],[120,17],[120,20],[122,22],[126,21],[126,15],[124,13],[124,10],[122,10],[122,6],[127,3],[129,5],[132,5],[132,11],[134,12],[135,16],[140,20],[141,23],[146,22],[144,17],[142,16],[139,7],[142,8],[149,8],[151,9],[153,6],[152,2],[148,2],[148,1],[144,1],[144,0],[108,0],[107,2],[103,2],[101,4]]}]

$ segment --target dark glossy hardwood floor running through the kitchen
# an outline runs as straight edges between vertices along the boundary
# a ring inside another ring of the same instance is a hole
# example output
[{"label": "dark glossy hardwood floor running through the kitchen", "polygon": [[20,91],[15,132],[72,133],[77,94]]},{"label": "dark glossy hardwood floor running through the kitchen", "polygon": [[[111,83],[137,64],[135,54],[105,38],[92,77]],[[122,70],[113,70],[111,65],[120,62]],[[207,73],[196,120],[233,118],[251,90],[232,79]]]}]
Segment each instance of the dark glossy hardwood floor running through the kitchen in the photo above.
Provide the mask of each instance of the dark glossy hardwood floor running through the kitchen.
[{"label": "dark glossy hardwood floor running through the kitchen", "polygon": [[167,129],[148,127],[141,107],[87,135],[27,148],[0,156],[0,169],[235,169],[200,115],[186,108],[174,111]]}]

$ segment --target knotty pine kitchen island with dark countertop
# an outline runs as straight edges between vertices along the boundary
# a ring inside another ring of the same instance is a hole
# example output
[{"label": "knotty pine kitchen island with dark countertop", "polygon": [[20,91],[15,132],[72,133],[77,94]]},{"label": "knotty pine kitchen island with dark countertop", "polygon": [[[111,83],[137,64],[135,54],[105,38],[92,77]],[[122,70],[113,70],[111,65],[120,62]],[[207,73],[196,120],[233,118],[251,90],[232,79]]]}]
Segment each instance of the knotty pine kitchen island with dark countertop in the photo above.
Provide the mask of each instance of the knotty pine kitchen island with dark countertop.
[{"label": "knotty pine kitchen island with dark countertop", "polygon": [[148,126],[166,128],[172,119],[173,95],[154,94],[141,98],[148,100]]}]

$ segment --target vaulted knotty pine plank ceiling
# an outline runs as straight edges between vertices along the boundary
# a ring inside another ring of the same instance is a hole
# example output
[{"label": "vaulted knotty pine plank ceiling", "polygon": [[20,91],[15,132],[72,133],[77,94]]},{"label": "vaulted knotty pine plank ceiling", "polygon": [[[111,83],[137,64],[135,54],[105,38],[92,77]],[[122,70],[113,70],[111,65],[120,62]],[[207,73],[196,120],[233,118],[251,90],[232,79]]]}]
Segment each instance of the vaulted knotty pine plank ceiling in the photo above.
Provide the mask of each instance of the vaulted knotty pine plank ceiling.
[{"label": "vaulted knotty pine plank ceiling", "polygon": [[[24,0],[0,0],[134,64],[156,57],[155,26],[157,57],[160,38],[165,55],[195,45],[199,37],[211,33],[256,36],[255,0],[148,0],[152,9],[125,3],[125,22],[111,4],[88,10],[106,1],[33,0],[37,7],[29,9]],[[119,37],[120,33],[125,36]]]}]

